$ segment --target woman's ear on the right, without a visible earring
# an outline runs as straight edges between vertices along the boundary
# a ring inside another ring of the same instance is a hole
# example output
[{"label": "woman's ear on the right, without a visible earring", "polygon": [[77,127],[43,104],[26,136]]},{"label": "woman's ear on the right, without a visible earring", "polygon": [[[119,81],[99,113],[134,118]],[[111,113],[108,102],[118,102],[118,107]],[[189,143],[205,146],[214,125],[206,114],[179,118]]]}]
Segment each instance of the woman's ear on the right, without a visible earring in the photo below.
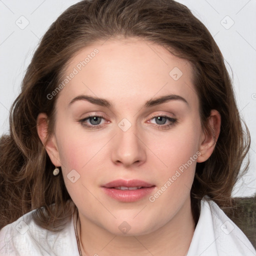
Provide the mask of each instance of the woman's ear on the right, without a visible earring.
[{"label": "woman's ear on the right, without a visible earring", "polygon": [[197,157],[197,162],[206,161],[215,148],[221,124],[221,116],[215,109],[210,111],[210,116],[207,119],[209,130],[203,129],[199,144],[201,154]]}]

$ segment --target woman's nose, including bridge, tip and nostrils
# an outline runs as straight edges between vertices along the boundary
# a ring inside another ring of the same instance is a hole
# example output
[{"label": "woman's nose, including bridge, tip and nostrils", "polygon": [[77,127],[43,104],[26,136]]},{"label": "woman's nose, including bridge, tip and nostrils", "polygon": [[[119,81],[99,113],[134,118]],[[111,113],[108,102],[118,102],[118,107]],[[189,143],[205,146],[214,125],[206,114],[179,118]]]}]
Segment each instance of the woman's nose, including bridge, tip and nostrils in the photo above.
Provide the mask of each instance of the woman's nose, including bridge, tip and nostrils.
[{"label": "woman's nose, including bridge, tip and nostrils", "polygon": [[143,162],[146,157],[145,148],[137,136],[139,132],[136,123],[123,118],[116,128],[117,134],[114,138],[116,143],[112,151],[112,160],[122,162],[124,165]]}]

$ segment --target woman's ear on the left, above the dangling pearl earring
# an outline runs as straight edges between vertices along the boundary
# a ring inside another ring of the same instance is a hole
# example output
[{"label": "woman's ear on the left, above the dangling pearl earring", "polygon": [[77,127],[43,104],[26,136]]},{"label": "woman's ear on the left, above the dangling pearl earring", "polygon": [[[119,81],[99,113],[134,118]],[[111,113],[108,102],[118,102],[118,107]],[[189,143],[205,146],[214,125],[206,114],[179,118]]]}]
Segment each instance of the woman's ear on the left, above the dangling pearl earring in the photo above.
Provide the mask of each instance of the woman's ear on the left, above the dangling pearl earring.
[{"label": "woman's ear on the left, above the dangling pearl earring", "polygon": [[36,119],[36,129],[42,144],[55,166],[61,166],[55,135],[48,136],[48,117],[45,113],[39,113]]}]

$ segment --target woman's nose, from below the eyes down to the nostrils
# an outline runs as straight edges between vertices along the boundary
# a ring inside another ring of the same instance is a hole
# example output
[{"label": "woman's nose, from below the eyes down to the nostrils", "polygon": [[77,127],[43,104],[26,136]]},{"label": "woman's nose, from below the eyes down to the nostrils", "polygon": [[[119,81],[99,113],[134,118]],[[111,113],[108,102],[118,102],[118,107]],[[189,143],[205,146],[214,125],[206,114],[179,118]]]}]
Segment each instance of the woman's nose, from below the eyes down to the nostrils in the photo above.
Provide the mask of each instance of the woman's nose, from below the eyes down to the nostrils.
[{"label": "woman's nose, from below the eyes down to the nostrils", "polygon": [[143,143],[142,135],[138,135],[136,125],[131,125],[126,131],[118,126],[117,134],[112,144],[111,158],[115,164],[129,167],[139,166],[146,160],[146,146]]}]

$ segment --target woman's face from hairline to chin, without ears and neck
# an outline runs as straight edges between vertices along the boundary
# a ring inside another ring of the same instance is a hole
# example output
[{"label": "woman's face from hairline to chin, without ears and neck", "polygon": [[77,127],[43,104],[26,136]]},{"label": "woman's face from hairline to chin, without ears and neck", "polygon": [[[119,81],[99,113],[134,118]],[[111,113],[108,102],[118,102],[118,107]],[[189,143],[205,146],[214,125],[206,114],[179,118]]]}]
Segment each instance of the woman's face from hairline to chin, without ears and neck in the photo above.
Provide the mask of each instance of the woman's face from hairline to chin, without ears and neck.
[{"label": "woman's face from hairline to chin, without ears and neck", "polygon": [[191,215],[204,134],[189,62],[148,41],[108,39],[79,51],[65,75],[47,150],[80,221],[145,234]]}]

